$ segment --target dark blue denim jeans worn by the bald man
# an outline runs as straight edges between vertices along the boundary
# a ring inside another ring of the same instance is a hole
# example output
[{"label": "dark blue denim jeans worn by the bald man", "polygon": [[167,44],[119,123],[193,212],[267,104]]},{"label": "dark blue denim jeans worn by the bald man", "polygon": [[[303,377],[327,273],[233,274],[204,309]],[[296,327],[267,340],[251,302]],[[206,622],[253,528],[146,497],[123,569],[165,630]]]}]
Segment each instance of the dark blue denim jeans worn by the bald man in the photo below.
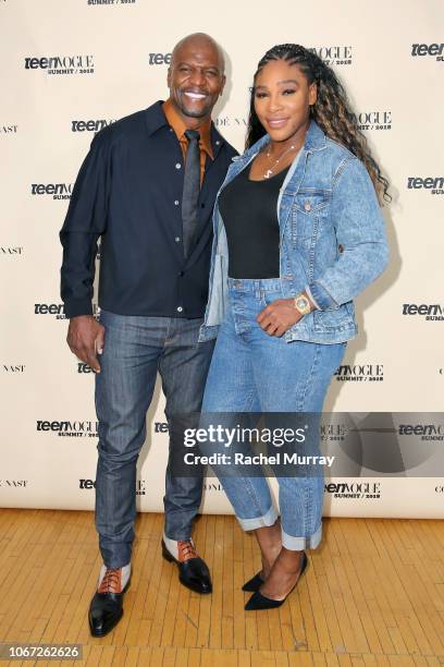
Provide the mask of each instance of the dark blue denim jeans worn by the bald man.
[{"label": "dark blue denim jeans worn by the bald man", "polygon": [[[104,326],[101,373],[96,375],[99,458],[96,527],[106,566],[131,560],[136,518],[136,464],[146,437],[146,413],[157,373],[165,395],[165,415],[200,410],[213,344],[198,343],[201,319],[100,313]],[[170,437],[165,477],[165,535],[189,539],[201,501],[203,468],[193,477],[171,474],[183,442]]]}]

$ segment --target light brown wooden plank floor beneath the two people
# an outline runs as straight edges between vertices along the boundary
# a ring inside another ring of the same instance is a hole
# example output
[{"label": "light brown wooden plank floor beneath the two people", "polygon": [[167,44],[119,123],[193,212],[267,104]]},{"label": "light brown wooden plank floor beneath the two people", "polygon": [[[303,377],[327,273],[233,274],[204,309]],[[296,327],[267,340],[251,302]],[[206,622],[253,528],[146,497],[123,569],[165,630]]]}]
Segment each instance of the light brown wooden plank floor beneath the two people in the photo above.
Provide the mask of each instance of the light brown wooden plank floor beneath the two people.
[{"label": "light brown wooden plank floor beneath the two people", "polygon": [[138,516],[124,617],[98,640],[87,624],[100,567],[92,512],[0,510],[0,642],[83,644],[83,660],[25,666],[444,664],[443,522],[325,520],[287,603],[246,613],[240,585],[260,566],[254,538],[232,517],[199,519],[214,589],[199,596],[161,558],[162,521]]}]

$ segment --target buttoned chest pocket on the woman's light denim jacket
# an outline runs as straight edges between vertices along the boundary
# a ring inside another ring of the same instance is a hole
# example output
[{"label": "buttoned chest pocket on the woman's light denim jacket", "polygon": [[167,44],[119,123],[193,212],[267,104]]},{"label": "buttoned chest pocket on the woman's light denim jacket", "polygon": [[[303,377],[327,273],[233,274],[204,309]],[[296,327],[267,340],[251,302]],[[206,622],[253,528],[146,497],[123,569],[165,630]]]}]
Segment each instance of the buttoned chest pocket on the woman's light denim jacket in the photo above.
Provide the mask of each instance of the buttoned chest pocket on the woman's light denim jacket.
[{"label": "buttoned chest pocket on the woman's light denim jacket", "polygon": [[322,191],[299,191],[292,209],[292,247],[308,247],[330,203],[330,193]]}]

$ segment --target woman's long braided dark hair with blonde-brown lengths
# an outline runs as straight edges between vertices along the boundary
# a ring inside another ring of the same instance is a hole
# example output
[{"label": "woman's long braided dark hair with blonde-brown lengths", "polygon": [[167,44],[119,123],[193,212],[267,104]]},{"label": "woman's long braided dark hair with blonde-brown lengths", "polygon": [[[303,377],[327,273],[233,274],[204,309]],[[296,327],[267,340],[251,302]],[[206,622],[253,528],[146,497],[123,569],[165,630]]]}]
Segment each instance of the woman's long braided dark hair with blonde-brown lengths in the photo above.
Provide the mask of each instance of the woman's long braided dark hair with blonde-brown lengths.
[{"label": "woman's long braided dark hair with blonde-brown lengths", "polygon": [[[378,162],[371,156],[367,138],[359,130],[356,116],[350,109],[347,94],[332,68],[329,68],[319,56],[305,47],[297,44],[281,44],[267,51],[259,61],[255,74],[255,83],[258,73],[271,60],[285,60],[289,64],[297,64],[303,74],[305,74],[308,85],[316,84],[318,98],[316,104],[310,107],[310,118],[318,123],[326,136],[348,148],[350,153],[365,163],[378,195],[386,201],[391,201],[388,181],[382,175]],[[255,111],[254,86],[250,98],[246,148],[252,146],[264,134],[266,130]]]}]

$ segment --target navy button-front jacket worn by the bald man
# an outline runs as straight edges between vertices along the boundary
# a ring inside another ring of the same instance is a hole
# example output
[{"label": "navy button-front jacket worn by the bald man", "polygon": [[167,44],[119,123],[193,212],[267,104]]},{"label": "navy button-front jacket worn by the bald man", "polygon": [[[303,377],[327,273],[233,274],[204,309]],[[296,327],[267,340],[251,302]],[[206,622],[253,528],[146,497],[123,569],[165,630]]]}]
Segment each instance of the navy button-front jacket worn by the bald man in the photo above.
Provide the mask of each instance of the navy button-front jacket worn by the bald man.
[{"label": "navy button-front jacket worn by the bald man", "polygon": [[184,159],[158,101],[92,140],[60,232],[66,317],[92,313],[97,243],[99,306],[120,315],[202,317],[208,298],[211,214],[236,150],[211,125],[194,248],[184,258]]}]

